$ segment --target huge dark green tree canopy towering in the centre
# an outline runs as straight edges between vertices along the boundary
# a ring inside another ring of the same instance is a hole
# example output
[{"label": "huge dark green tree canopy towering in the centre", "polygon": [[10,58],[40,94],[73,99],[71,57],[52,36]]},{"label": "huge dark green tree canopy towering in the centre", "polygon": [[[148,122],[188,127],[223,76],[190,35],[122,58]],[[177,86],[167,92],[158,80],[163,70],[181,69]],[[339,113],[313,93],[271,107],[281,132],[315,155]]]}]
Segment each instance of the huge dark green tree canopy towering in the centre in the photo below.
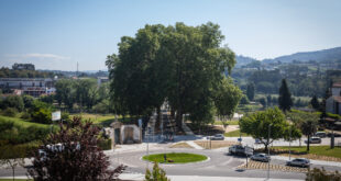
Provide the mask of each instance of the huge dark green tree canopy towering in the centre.
[{"label": "huge dark green tree canopy towering in the centre", "polygon": [[215,92],[224,70],[235,59],[219,25],[145,25],[135,37],[123,36],[119,54],[107,57],[116,110],[121,114],[147,115],[167,100],[177,126],[183,114],[191,121],[212,116]]}]

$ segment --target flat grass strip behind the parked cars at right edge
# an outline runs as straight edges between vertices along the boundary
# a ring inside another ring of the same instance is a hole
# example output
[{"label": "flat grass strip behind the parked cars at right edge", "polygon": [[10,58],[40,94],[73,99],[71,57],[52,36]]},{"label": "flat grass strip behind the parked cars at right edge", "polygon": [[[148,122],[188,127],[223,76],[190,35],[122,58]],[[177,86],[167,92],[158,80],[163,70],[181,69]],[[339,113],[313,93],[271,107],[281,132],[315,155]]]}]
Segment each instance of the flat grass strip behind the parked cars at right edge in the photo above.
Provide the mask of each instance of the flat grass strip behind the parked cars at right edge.
[{"label": "flat grass strip behind the parked cars at right edge", "polygon": [[[277,149],[289,149],[288,147],[274,147]],[[292,147],[292,150],[295,150],[299,154],[308,154],[306,152],[307,147]],[[327,156],[327,157],[336,157],[341,159],[341,147],[334,147],[334,149],[330,149],[330,146],[310,146],[309,154],[317,156]]]}]

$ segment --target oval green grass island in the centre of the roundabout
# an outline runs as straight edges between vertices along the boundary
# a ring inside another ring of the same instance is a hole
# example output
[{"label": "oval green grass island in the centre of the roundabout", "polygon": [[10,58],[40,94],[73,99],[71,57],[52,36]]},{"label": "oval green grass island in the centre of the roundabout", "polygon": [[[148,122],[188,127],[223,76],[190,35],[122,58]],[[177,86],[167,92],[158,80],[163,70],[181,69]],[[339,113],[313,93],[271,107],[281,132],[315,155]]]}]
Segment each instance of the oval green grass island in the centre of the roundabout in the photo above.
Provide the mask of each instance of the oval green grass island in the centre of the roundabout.
[{"label": "oval green grass island in the centre of the roundabout", "polygon": [[[207,159],[204,155],[197,155],[197,154],[188,154],[188,152],[170,152],[166,154],[167,156],[167,163],[186,163],[186,162],[197,162],[197,161],[204,161]],[[164,154],[154,154],[143,157],[144,160],[148,161],[157,161],[157,162],[164,162]],[[173,162],[169,162],[172,160]]]}]

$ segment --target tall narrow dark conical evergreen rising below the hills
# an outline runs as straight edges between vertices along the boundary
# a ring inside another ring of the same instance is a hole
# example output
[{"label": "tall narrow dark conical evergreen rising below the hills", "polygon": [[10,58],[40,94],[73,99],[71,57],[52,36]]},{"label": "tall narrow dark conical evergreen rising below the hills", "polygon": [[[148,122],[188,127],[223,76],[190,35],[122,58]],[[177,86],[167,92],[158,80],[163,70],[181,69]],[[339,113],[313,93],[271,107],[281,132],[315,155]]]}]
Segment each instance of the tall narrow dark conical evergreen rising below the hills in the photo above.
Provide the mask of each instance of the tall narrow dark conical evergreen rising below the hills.
[{"label": "tall narrow dark conical evergreen rising below the hills", "polygon": [[285,79],[282,79],[282,86],[279,88],[279,97],[278,97],[279,109],[284,112],[289,111],[293,106],[292,93],[288,89]]}]

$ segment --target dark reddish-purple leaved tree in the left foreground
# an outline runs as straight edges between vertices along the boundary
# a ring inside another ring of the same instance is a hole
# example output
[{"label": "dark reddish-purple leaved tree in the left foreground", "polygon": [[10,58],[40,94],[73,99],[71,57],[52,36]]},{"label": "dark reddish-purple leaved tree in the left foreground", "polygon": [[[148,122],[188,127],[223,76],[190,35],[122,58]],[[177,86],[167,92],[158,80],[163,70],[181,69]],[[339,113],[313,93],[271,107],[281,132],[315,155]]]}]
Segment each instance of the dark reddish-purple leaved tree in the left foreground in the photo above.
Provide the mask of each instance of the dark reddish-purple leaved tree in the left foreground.
[{"label": "dark reddish-purple leaved tree in the left foreground", "polygon": [[37,181],[114,180],[124,166],[110,170],[109,158],[97,146],[99,128],[90,122],[74,117],[51,134],[34,154],[29,174]]}]

